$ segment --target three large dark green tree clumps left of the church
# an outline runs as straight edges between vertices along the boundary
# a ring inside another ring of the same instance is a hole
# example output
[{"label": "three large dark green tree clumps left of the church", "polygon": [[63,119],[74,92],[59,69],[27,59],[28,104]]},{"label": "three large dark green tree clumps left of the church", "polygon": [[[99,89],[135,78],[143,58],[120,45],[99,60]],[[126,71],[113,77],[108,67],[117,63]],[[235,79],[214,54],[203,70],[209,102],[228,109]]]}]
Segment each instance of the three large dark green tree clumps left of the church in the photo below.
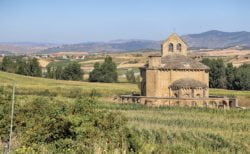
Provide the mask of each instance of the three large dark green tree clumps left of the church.
[{"label": "three large dark green tree clumps left of the church", "polygon": [[[0,69],[9,73],[17,73],[27,76],[41,77],[42,69],[36,58],[4,57]],[[57,80],[82,80],[83,70],[77,62],[69,63],[67,66],[48,65],[44,76]],[[117,82],[118,74],[116,64],[111,57],[106,57],[104,63],[95,63],[94,70],[89,74],[90,82]]]}]

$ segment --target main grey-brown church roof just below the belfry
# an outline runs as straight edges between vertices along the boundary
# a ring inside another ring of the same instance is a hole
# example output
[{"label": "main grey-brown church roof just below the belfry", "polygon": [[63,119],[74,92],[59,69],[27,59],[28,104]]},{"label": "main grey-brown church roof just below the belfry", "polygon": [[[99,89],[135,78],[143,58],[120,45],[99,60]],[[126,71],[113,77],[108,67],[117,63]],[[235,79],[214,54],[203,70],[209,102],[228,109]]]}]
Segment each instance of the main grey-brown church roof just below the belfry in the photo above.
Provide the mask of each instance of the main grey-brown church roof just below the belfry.
[{"label": "main grey-brown church roof just below the belfry", "polygon": [[206,65],[183,55],[169,55],[162,57],[161,67],[164,69],[198,69],[208,70]]}]

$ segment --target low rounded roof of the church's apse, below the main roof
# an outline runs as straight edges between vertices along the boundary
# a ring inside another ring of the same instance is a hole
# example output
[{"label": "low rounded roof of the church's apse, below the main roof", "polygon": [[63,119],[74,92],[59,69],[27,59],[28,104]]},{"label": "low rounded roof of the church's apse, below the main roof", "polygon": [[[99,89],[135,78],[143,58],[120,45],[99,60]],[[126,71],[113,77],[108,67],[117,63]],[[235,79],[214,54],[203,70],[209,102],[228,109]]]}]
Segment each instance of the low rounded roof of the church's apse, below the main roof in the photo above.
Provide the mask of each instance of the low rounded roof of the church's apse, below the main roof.
[{"label": "low rounded roof of the church's apse, below the main roof", "polygon": [[180,88],[208,88],[208,86],[200,81],[191,79],[191,78],[183,78],[174,81],[169,88],[172,89],[180,89]]}]

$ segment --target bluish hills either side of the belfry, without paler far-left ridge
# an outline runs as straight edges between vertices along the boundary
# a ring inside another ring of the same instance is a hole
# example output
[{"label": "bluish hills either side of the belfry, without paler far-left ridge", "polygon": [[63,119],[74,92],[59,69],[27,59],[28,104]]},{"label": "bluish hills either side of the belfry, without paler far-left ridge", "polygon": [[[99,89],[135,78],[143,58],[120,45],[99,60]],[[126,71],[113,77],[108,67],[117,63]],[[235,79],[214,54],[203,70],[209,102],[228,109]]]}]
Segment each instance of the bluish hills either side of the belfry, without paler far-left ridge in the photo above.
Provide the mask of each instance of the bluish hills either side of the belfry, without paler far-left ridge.
[{"label": "bluish hills either side of the belfry, without paler far-left ridge", "polygon": [[[211,30],[199,34],[182,36],[184,41],[192,49],[209,48],[221,49],[240,46],[250,48],[250,32],[222,32]],[[153,40],[115,40],[110,42],[91,42],[60,47],[48,48],[42,53],[53,53],[59,51],[89,51],[89,52],[128,52],[138,50],[160,50],[162,41]]]}]

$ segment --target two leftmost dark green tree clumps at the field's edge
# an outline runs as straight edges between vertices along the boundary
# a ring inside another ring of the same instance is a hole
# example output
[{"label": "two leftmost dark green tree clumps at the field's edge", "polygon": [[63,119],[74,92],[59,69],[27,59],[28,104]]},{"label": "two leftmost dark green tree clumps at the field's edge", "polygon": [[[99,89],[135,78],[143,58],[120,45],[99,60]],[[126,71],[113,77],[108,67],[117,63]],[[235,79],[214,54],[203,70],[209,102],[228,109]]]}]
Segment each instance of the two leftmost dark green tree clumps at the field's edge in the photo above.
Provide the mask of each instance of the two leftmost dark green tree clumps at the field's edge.
[{"label": "two leftmost dark green tree clumps at the field's edge", "polygon": [[26,58],[22,56],[5,56],[0,64],[0,70],[27,76],[45,76],[47,78],[60,80],[83,79],[81,65],[77,62],[69,63],[65,67],[49,65],[47,71],[42,74],[42,68],[36,58]]}]

